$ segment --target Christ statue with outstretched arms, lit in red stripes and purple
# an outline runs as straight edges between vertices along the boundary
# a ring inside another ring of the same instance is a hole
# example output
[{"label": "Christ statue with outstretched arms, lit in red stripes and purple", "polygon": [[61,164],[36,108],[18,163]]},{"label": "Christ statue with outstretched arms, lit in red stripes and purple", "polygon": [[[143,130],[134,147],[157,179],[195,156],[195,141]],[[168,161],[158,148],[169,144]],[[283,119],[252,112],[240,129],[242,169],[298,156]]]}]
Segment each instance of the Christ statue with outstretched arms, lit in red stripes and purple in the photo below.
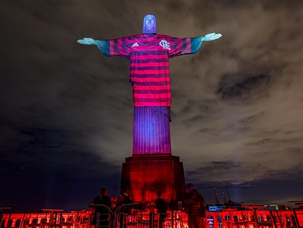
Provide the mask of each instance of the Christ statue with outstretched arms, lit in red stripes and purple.
[{"label": "Christ statue with outstretched arms, lit in red stripes and purple", "polygon": [[134,99],[132,155],[171,155],[171,85],[168,59],[197,53],[203,41],[220,38],[209,33],[195,38],[175,38],[156,32],[156,18],[146,15],[140,35],[115,40],[83,38],[78,43],[97,45],[105,56],[130,60],[130,82]]}]

